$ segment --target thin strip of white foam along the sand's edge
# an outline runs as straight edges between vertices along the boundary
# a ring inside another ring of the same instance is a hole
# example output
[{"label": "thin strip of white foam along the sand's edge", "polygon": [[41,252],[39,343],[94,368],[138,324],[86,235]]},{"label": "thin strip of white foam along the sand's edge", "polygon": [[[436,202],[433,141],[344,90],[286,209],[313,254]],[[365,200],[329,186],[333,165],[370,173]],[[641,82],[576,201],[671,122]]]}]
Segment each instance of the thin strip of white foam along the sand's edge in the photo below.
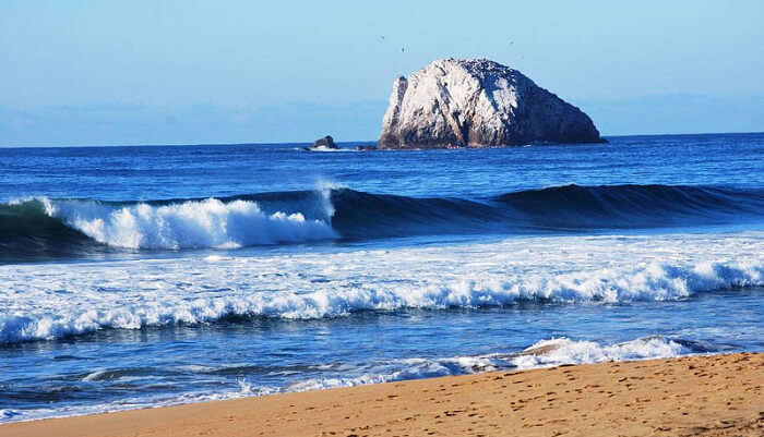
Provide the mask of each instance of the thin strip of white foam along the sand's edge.
[{"label": "thin strip of white foam along the sand's edge", "polygon": [[[539,353],[539,351],[542,351]],[[104,404],[63,406],[38,410],[0,410],[0,423],[31,421],[83,414],[95,414],[139,408],[167,406],[213,400],[256,397],[294,391],[323,390],[337,387],[354,387],[398,380],[420,379],[447,375],[465,375],[497,369],[530,369],[561,364],[590,364],[607,361],[669,359],[692,354],[693,351],[664,337],[649,337],[614,344],[595,341],[575,341],[568,338],[542,340],[520,353],[493,353],[453,357],[410,357],[345,366],[337,371],[347,376],[326,376],[298,379],[285,386],[258,386],[246,378],[217,392],[191,391],[176,396],[122,399]],[[200,372],[208,368],[198,368]],[[97,379],[103,371],[96,371],[85,380]]]}]

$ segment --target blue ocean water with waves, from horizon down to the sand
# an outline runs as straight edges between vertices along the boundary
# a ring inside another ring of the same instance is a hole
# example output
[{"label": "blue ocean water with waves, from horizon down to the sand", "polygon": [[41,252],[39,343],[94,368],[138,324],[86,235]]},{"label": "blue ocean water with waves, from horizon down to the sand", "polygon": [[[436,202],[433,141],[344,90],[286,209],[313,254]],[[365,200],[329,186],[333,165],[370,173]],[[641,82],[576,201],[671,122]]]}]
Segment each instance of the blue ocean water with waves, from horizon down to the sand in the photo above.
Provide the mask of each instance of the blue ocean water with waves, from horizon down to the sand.
[{"label": "blue ocean water with waves, from horizon down to the sand", "polygon": [[0,148],[0,422],[764,350],[764,134],[609,139]]}]

